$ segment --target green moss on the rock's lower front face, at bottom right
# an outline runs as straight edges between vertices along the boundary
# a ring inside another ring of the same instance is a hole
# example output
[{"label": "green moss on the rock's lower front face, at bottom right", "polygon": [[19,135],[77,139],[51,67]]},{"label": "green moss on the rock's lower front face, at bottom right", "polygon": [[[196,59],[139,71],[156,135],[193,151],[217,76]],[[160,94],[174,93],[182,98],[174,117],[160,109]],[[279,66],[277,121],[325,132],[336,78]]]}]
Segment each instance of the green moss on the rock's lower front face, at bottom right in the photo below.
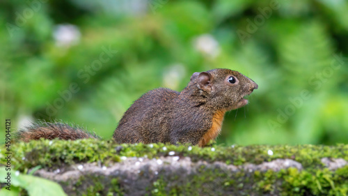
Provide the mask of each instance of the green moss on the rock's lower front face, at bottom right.
[{"label": "green moss on the rock's lower front face, at bottom right", "polygon": [[150,190],[151,195],[347,195],[347,169],[318,170],[313,175],[290,168],[281,172],[256,171],[250,176],[243,171],[228,174],[219,169],[203,169],[199,175],[187,177],[187,181],[161,177]]}]

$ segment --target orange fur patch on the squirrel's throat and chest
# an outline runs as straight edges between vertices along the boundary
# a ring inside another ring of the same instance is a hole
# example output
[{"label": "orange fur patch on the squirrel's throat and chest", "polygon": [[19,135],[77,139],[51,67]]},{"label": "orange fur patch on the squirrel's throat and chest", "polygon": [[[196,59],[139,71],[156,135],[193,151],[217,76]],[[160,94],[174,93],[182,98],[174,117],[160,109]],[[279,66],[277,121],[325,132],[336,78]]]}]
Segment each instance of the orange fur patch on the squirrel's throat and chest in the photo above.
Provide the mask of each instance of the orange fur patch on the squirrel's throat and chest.
[{"label": "orange fur patch on the squirrel's throat and chest", "polygon": [[219,135],[222,127],[223,116],[225,116],[225,111],[218,111],[214,114],[212,119],[212,127],[209,128],[207,133],[205,133],[198,142],[198,146],[205,146],[210,140],[215,140],[215,138]]}]

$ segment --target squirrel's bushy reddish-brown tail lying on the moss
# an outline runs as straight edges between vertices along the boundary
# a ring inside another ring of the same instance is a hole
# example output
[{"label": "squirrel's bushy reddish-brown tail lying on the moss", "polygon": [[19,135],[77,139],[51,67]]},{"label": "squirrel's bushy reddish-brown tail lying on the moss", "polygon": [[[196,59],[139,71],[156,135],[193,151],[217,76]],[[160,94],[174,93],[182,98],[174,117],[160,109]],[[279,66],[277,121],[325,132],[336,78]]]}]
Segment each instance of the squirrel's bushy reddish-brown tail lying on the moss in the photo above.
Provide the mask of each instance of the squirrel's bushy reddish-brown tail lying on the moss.
[{"label": "squirrel's bushy reddish-brown tail lying on the moss", "polygon": [[33,123],[31,126],[19,130],[17,138],[24,142],[39,140],[40,138],[48,140],[53,140],[54,138],[59,138],[60,140],[100,139],[95,133],[89,133],[79,127],[69,126],[67,123],[48,122]]}]

